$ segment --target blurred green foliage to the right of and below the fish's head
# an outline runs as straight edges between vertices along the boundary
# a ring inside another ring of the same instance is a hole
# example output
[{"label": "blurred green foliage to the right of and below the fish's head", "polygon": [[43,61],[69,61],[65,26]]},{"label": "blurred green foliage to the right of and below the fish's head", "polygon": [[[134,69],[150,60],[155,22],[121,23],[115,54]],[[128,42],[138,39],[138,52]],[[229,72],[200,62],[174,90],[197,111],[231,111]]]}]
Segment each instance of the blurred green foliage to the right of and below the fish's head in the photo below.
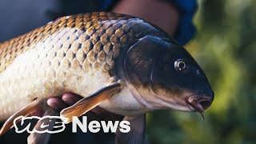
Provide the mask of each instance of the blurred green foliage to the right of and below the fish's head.
[{"label": "blurred green foliage to the right of and below the fish's head", "polygon": [[256,143],[256,2],[201,0],[198,34],[185,46],[202,66],[215,98],[200,114],[147,115],[151,143]]}]

